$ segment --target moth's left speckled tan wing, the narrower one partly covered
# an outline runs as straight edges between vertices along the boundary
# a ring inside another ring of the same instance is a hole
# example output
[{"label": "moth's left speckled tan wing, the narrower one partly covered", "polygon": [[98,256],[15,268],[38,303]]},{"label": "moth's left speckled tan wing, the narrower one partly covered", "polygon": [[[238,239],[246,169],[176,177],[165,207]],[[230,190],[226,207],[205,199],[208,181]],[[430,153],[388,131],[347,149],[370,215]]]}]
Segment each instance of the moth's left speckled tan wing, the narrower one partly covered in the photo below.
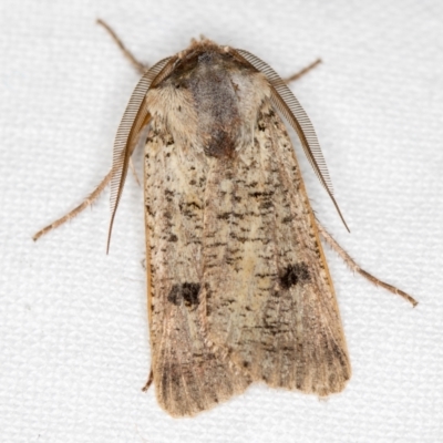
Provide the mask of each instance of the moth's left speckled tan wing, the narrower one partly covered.
[{"label": "moth's left speckled tan wing, the narrower one partly covered", "polygon": [[210,349],[198,315],[205,168],[153,122],[145,152],[152,369],[158,403],[174,416],[209,409],[250,382]]}]

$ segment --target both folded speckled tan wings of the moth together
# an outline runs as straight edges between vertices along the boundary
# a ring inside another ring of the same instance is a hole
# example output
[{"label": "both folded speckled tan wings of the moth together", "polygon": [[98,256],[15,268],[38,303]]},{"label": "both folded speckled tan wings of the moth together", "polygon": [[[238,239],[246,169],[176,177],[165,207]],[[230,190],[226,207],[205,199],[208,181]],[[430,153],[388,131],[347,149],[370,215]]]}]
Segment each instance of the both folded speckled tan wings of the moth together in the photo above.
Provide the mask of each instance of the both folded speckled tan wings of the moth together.
[{"label": "both folded speckled tan wings of the moth together", "polygon": [[250,381],[318,395],[350,364],[333,288],[280,119],[262,105],[231,158],[146,145],[151,340],[161,405],[193,415]]}]

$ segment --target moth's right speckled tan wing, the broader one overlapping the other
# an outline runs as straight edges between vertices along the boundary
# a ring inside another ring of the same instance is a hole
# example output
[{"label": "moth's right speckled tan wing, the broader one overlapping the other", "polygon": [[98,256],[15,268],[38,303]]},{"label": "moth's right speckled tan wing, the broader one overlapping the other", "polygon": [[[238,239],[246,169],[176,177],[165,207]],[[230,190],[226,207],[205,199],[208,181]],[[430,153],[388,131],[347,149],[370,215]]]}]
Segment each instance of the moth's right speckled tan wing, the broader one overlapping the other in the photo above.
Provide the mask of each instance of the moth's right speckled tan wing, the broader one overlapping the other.
[{"label": "moth's right speckled tan wing, the broader one overlapping the other", "polygon": [[255,381],[328,395],[350,363],[293,148],[261,109],[255,143],[214,159],[206,185],[202,319]]}]

